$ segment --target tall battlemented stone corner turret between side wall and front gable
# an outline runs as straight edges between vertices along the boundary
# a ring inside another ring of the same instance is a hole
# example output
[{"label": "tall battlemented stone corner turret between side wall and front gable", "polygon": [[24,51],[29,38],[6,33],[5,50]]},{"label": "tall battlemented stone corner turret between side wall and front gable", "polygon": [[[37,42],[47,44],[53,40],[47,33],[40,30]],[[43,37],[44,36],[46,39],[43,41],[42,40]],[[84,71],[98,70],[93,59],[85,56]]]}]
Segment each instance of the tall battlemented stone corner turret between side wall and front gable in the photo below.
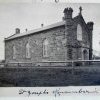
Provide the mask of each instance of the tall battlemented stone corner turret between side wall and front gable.
[{"label": "tall battlemented stone corner turret between side wall and front gable", "polygon": [[65,8],[64,11],[64,21],[65,21],[65,38],[66,38],[66,55],[65,59],[66,60],[72,60],[72,24],[73,24],[73,19],[72,19],[72,13],[73,9],[70,8]]}]

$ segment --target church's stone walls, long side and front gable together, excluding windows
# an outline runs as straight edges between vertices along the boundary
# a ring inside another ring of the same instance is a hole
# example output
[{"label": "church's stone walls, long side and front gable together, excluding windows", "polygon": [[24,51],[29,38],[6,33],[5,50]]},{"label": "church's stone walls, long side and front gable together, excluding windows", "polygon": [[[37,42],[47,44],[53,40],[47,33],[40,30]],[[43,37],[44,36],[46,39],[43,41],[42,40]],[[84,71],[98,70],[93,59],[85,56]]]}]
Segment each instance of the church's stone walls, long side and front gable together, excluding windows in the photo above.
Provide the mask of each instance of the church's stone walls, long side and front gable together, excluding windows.
[{"label": "church's stone walls, long side and front gable together, excluding windows", "polygon": [[[91,33],[82,16],[68,20],[66,19],[65,25],[5,41],[6,62],[88,60],[90,45],[92,45],[89,37]],[[78,24],[82,27],[82,41],[77,40]],[[43,41],[45,39],[48,40],[47,57],[43,56]],[[27,43],[30,45],[30,58],[26,58]],[[15,59],[13,59],[13,46],[17,51]],[[84,57],[84,51],[87,52],[87,58]]]}]

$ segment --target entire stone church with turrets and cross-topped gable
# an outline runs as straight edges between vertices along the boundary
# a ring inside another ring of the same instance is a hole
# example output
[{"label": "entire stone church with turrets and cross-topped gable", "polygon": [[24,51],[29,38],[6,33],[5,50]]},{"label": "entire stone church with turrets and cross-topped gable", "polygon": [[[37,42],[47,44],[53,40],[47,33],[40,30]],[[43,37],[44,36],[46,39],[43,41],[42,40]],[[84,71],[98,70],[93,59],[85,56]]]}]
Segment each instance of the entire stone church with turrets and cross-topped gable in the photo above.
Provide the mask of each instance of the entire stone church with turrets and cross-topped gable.
[{"label": "entire stone church with turrets and cross-topped gable", "polygon": [[5,38],[6,62],[44,62],[92,59],[93,22],[85,22],[82,7],[73,17],[65,8],[61,22]]}]

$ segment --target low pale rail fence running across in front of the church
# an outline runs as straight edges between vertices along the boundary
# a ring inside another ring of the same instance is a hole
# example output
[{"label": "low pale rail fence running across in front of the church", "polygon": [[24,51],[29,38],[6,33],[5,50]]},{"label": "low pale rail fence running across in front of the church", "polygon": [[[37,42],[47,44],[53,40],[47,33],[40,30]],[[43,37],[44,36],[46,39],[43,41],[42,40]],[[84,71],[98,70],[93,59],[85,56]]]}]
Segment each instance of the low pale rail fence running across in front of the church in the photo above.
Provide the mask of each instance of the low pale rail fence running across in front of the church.
[{"label": "low pale rail fence running across in front of the church", "polygon": [[61,66],[83,66],[100,65],[100,60],[68,60],[68,61],[44,61],[44,62],[9,62],[0,63],[0,67],[61,67]]}]

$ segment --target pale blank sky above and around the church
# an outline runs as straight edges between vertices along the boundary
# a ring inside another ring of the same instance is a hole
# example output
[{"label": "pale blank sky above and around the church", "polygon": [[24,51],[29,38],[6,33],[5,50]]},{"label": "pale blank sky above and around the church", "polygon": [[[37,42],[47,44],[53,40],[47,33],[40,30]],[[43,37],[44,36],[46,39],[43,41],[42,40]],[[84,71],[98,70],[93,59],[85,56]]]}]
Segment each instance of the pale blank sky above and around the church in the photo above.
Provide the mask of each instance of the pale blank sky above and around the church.
[{"label": "pale blank sky above and around the church", "polygon": [[[47,0],[0,0],[0,60],[4,59],[4,38],[15,33],[15,28],[33,30],[62,20],[65,7],[73,8],[73,17],[82,15],[86,22],[94,22],[93,49],[100,51],[100,4],[47,2]],[[66,0],[65,0],[66,1]],[[20,33],[21,34],[21,33]]]}]

